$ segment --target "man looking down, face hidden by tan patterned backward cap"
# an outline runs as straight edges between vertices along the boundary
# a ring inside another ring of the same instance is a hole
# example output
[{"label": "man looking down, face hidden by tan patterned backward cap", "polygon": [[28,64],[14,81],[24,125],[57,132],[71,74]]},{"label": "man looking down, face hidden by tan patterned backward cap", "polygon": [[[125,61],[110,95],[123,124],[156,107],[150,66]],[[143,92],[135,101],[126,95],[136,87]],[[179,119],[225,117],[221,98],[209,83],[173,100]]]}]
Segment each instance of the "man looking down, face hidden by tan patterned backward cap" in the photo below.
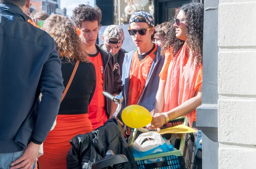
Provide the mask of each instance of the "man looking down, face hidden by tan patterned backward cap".
[{"label": "man looking down, face hidden by tan patterned backward cap", "polygon": [[110,52],[113,54],[113,56],[115,56],[120,67],[121,76],[125,53],[128,53],[121,48],[124,39],[124,31],[119,25],[109,25],[102,35],[103,45],[99,45],[100,48]]}]

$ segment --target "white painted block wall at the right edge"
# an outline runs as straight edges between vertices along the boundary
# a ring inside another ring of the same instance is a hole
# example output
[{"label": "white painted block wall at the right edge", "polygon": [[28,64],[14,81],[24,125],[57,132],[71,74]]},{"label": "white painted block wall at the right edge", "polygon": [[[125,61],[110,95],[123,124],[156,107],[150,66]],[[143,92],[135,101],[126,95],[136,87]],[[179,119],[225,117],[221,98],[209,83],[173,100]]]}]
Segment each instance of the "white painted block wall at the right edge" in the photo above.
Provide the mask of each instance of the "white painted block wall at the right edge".
[{"label": "white painted block wall at the right edge", "polygon": [[256,169],[256,0],[220,0],[219,169]]}]

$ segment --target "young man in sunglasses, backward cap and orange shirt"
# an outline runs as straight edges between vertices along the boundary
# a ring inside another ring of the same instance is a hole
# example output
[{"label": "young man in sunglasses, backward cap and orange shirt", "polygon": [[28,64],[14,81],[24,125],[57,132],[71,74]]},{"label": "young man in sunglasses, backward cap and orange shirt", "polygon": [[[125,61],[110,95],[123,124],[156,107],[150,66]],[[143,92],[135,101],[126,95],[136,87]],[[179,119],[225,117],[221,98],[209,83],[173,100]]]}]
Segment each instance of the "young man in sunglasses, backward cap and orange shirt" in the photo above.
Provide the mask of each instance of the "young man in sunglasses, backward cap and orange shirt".
[{"label": "young man in sunglasses, backward cap and orange shirt", "polygon": [[122,67],[122,108],[138,104],[152,111],[159,85],[158,75],[164,62],[160,46],[153,43],[154,19],[151,14],[139,11],[131,15],[129,24],[128,32],[137,48],[125,54]]}]

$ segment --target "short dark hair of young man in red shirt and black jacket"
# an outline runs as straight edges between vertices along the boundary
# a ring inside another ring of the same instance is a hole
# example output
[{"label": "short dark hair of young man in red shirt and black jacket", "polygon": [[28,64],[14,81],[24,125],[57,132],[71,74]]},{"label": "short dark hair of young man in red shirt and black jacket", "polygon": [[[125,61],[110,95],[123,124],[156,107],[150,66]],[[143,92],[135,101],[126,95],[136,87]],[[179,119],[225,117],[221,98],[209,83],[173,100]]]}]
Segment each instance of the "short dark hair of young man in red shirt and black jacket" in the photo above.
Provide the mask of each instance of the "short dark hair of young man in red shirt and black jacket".
[{"label": "short dark hair of young man in red shirt and black jacket", "polygon": [[78,28],[81,28],[83,21],[98,21],[98,25],[102,20],[102,11],[98,6],[89,6],[80,4],[73,10],[73,20]]}]

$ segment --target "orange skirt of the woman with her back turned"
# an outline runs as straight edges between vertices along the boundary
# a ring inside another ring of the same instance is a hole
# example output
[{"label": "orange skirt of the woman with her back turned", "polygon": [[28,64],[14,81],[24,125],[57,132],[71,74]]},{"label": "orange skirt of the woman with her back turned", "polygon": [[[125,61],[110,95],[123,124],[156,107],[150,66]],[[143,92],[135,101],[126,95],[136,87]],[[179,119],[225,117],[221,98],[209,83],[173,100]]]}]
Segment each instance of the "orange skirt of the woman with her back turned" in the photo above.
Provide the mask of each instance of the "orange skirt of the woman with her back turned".
[{"label": "orange skirt of the woman with her back turned", "polygon": [[44,141],[44,155],[38,158],[39,169],[67,169],[69,141],[78,134],[92,131],[87,114],[58,115],[55,128]]}]

